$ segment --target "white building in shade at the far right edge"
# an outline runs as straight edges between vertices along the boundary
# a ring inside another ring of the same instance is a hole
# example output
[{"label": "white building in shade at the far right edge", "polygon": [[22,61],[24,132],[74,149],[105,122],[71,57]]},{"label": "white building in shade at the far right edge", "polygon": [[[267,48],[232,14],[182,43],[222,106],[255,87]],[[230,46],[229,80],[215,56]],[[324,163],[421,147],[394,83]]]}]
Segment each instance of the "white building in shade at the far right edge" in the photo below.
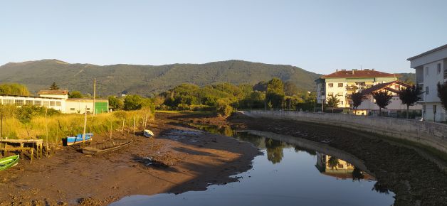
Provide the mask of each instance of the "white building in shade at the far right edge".
[{"label": "white building in shade at the far right edge", "polygon": [[447,44],[428,50],[407,60],[416,70],[416,83],[424,89],[422,100],[424,119],[446,121],[446,110],[438,97],[438,83],[447,81]]}]

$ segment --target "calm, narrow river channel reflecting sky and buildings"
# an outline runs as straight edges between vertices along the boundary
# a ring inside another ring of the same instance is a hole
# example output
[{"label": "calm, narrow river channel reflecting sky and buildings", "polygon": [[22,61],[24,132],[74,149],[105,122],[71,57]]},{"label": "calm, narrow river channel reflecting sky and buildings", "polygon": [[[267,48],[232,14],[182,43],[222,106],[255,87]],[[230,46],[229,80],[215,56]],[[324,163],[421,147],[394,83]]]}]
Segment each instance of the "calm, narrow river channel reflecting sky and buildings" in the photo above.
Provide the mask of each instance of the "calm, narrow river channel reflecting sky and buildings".
[{"label": "calm, narrow river channel reflecting sky and buildings", "polygon": [[[304,139],[228,126],[199,126],[257,146],[253,168],[238,182],[179,195],[132,195],[112,205],[392,205],[394,193],[374,187],[374,175],[349,153]],[[332,155],[332,156],[331,156]]]}]

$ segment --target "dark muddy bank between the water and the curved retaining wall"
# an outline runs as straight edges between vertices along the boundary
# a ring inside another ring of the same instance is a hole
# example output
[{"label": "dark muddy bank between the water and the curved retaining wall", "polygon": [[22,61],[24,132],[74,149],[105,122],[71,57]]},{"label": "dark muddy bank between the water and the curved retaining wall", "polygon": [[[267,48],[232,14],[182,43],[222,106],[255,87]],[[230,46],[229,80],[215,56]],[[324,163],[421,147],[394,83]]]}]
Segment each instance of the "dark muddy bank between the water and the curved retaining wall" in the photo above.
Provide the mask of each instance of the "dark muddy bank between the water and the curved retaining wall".
[{"label": "dark muddy bank between the water and the curved retaining wall", "polygon": [[299,121],[253,119],[242,114],[226,120],[203,115],[171,118],[185,124],[216,124],[222,128],[231,125],[235,129],[269,131],[327,143],[364,161],[378,180],[374,190],[394,192],[395,205],[447,204],[447,174],[443,170],[413,149],[390,143],[373,134]]}]

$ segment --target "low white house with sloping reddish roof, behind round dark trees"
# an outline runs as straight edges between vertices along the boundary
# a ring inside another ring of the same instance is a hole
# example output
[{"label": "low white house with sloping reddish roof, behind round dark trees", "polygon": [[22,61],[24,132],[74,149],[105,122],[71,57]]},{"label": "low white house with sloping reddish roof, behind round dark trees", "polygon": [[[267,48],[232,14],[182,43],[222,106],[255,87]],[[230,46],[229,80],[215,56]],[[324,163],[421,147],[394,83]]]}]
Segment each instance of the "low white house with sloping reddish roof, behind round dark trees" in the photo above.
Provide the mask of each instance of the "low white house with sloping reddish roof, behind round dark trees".
[{"label": "low white house with sloping reddish roof, behind round dark trees", "polygon": [[[393,81],[393,82],[382,83],[379,85],[374,85],[366,90],[362,90],[362,94],[364,95],[365,99],[363,100],[362,104],[360,104],[360,106],[357,107],[356,114],[378,115],[379,106],[377,106],[374,97],[372,97],[372,92],[381,92],[381,91],[387,91],[389,92],[389,94],[393,96],[393,98],[391,99],[391,103],[389,103],[386,109],[382,109],[382,113],[386,113],[392,116],[400,112],[406,111],[406,104],[402,104],[402,101],[399,98],[399,90],[403,90],[406,87],[411,87],[411,85],[407,85],[404,82]],[[422,106],[416,104],[414,106],[409,107],[410,110],[409,112],[421,112],[421,109]]]}]

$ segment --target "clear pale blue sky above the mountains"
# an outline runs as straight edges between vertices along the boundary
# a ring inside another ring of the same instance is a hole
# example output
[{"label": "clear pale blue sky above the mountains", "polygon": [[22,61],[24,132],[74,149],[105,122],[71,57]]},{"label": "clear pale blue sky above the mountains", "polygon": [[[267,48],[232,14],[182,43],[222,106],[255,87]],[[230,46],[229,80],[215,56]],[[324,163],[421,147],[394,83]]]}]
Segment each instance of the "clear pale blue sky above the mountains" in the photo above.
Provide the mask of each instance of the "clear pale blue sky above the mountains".
[{"label": "clear pale blue sky above the mountains", "polygon": [[[447,43],[447,1],[1,1],[0,65],[248,60],[327,74],[414,72]],[[0,74],[1,75],[1,74]]]}]

